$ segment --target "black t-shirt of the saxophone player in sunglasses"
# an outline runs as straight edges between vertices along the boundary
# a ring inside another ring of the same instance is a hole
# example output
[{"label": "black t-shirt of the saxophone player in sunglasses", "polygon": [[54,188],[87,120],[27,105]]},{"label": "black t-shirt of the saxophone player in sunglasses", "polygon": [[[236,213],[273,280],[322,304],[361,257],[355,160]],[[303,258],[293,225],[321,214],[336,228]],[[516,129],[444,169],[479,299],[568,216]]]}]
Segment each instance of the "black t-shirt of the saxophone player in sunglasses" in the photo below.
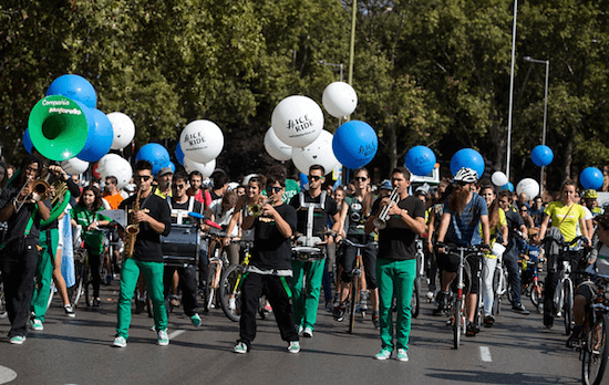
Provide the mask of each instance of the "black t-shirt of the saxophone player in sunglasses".
[{"label": "black t-shirt of the saxophone player in sunglasses", "polygon": [[[130,210],[133,207],[136,196],[131,196],[121,202],[118,209],[127,207]],[[140,233],[135,240],[135,250],[133,258],[143,262],[163,262],[163,252],[161,251],[161,236],[167,237],[172,231],[172,219],[169,205],[165,199],[157,195],[151,194],[147,198],[140,199],[140,209],[146,212],[165,225],[165,230],[159,235],[154,231],[148,223],[140,223]],[[131,211],[127,211],[131,218]]]}]

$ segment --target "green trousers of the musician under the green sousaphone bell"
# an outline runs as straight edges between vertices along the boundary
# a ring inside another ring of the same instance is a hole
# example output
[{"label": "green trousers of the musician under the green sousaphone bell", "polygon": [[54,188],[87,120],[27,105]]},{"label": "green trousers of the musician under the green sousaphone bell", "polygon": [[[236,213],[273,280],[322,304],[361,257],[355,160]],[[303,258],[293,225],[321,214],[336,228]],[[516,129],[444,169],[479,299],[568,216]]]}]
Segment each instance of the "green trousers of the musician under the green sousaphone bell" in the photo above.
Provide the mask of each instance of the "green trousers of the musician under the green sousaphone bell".
[{"label": "green trousers of the musician under the green sousaphone bell", "polygon": [[[50,237],[48,237],[50,235]],[[42,250],[38,253],[38,267],[35,271],[35,284],[30,310],[33,319],[44,322],[47,305],[51,295],[51,280],[55,264],[55,252],[59,244],[59,230],[51,229],[40,232],[39,244]]]}]

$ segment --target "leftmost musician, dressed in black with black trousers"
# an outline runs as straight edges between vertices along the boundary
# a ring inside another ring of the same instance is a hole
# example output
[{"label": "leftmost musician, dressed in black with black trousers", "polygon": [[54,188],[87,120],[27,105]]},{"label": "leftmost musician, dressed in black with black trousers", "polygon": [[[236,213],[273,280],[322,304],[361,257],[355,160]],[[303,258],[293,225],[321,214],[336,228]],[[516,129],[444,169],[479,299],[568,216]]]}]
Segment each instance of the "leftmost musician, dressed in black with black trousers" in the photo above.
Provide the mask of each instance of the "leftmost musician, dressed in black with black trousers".
[{"label": "leftmost musician, dressed in black with black trousers", "polygon": [[0,244],[0,269],[11,322],[11,344],[23,344],[28,335],[40,221],[50,217],[49,207],[42,202],[41,196],[33,194],[31,184],[39,178],[42,167],[39,157],[28,155],[21,163],[19,183],[13,179],[0,192],[0,221],[8,222],[4,242]]}]

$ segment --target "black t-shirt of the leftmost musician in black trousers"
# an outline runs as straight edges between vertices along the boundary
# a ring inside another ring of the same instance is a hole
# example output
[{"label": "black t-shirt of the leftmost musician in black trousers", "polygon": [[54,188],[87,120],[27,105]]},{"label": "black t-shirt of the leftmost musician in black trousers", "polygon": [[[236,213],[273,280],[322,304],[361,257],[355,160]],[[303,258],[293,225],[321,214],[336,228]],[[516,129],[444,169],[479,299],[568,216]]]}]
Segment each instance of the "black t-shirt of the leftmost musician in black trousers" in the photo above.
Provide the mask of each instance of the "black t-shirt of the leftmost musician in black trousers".
[{"label": "black t-shirt of the leftmost musician in black trousers", "polygon": [[[19,191],[21,190],[21,187],[19,189],[10,186],[0,191],[0,208],[4,208],[9,205],[12,205],[12,200],[18,196]],[[22,238],[25,235],[25,228],[28,227],[28,222],[30,221],[30,217],[32,216],[33,210],[37,209],[34,204],[25,204],[19,210],[19,212],[14,212],[10,216],[9,220],[7,221],[7,232],[4,235],[4,242],[8,244],[11,241]],[[38,209],[37,209],[38,210]],[[37,215],[33,218],[32,227],[30,228],[30,233],[28,238],[38,239],[40,236],[40,214],[37,212]]]}]

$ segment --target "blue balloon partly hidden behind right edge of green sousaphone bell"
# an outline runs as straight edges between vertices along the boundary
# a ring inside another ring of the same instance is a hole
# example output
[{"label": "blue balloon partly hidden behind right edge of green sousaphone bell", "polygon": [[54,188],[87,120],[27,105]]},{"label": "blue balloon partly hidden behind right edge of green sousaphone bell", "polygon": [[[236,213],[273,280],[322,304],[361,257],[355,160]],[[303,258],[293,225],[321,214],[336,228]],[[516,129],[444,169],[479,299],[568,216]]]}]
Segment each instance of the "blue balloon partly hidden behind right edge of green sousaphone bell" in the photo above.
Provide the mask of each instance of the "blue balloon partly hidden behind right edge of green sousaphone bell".
[{"label": "blue balloon partly hidden behind right edge of green sousaphone bell", "polygon": [[112,123],[107,116],[96,108],[87,108],[84,113],[89,125],[86,142],[90,143],[76,156],[81,160],[97,162],[107,154],[114,139]]}]

